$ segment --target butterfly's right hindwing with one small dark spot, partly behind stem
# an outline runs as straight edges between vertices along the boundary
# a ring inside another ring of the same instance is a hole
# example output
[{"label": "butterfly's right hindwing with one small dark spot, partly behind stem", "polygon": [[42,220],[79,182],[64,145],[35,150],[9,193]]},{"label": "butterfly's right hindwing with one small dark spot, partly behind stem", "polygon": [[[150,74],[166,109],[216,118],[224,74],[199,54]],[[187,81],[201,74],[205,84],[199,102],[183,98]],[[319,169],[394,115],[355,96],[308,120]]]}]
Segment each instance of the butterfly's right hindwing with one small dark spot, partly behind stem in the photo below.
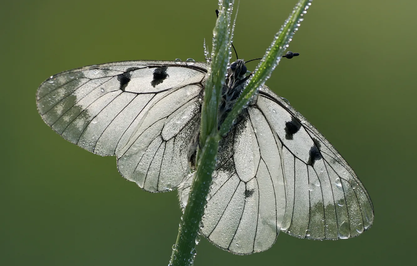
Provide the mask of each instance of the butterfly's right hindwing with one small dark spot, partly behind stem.
[{"label": "butterfly's right hindwing with one small dark spot, partly behind stem", "polygon": [[[216,186],[211,189],[202,233],[238,254],[272,246],[284,218],[286,198],[282,151],[265,117],[254,106],[221,143]],[[179,188],[182,205],[191,178]]]}]

